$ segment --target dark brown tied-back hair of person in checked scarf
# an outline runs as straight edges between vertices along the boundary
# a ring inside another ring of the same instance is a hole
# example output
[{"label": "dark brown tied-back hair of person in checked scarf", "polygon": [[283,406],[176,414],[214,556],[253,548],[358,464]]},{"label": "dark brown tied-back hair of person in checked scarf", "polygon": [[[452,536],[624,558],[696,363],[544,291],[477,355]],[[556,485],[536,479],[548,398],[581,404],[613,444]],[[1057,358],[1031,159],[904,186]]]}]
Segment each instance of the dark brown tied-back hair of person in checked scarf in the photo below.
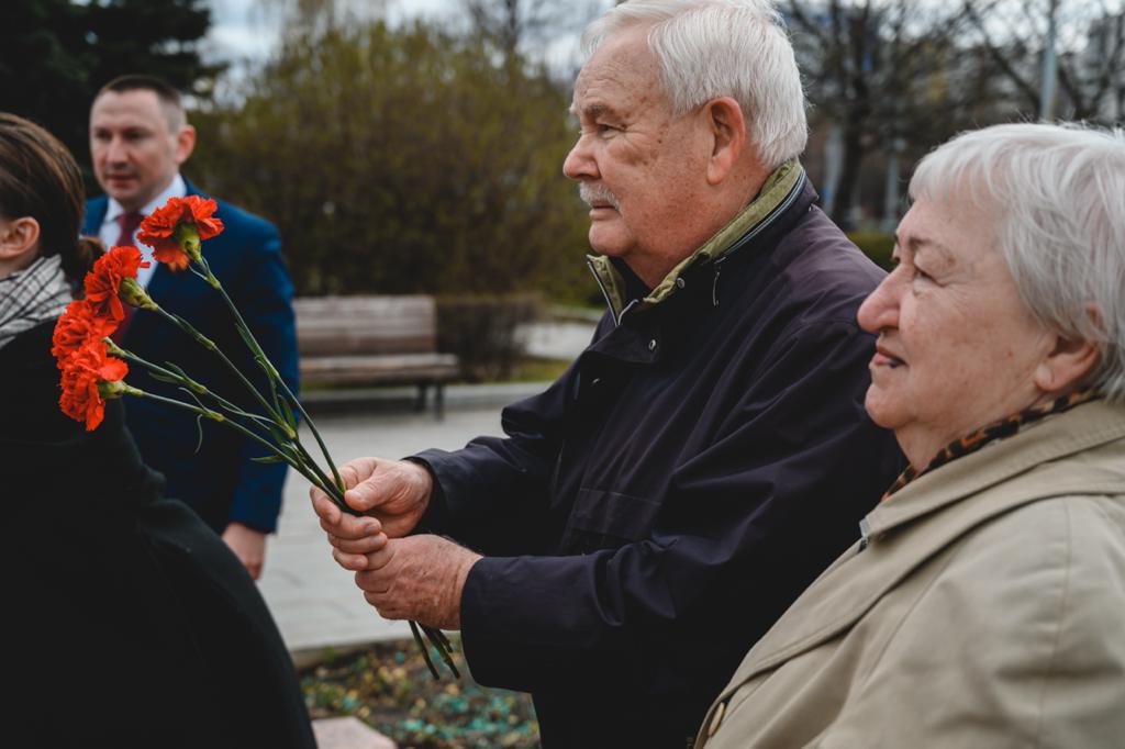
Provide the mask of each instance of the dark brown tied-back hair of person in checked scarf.
[{"label": "dark brown tied-back hair of person in checked scarf", "polygon": [[35,123],[0,112],[0,216],[30,216],[39,224],[39,256],[62,258],[78,285],[101,254],[101,243],[80,237],[86,191],[66,146]]}]

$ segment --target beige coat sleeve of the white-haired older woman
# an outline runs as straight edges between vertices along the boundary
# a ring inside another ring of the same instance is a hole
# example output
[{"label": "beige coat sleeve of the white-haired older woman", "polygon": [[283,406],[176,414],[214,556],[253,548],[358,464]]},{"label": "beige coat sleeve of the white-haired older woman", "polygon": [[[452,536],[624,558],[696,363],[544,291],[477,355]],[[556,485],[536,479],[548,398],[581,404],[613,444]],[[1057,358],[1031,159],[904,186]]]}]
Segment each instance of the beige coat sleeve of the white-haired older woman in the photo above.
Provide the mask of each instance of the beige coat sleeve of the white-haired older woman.
[{"label": "beige coat sleeve of the white-haired older woman", "polygon": [[1120,745],[1119,502],[1047,499],[966,539],[817,746]]}]

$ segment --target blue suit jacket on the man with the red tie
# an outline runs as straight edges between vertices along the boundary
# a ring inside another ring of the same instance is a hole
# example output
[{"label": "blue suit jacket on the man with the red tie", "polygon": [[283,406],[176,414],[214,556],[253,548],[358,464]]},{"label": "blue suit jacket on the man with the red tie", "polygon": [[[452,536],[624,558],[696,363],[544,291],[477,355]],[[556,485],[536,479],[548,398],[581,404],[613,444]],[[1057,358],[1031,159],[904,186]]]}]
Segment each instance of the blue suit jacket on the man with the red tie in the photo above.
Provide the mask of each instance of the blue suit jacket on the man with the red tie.
[{"label": "blue suit jacket on the man with the red tie", "polygon": [[[190,183],[188,192],[202,195]],[[230,204],[217,202],[215,215],[223,219],[225,228],[217,237],[204,242],[204,255],[267,357],[296,392],[292,283],[281,258],[277,229]],[[84,234],[98,234],[107,205],[105,197],[87,201]],[[164,309],[184,317],[215,341],[243,373],[260,388],[264,387],[264,374],[246,351],[230,312],[214,289],[188,271],[173,272],[160,265],[148,283],[148,292]],[[154,313],[138,310],[133,316],[124,348],[158,364],[173,362],[228,400],[251,413],[261,410],[218,358]],[[126,379],[142,390],[190,400],[173,386],[154,380],[138,364],[130,367]],[[277,527],[287,466],[253,462],[251,458],[266,454],[260,445],[228,426],[209,421],[201,425],[204,439],[197,453],[196,419],[177,408],[126,398],[126,414],[145,462],[168,479],[168,496],[191,505],[219,533],[228,522],[266,532]]]}]

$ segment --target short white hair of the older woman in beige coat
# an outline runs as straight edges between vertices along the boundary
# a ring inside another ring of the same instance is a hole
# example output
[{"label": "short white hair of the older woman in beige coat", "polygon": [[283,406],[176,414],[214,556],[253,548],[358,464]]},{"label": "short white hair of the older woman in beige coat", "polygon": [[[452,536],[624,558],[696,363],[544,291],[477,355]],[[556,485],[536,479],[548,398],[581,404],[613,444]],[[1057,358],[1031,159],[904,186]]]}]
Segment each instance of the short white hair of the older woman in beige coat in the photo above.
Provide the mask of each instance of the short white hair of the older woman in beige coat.
[{"label": "short white hair of the older woman in beige coat", "polygon": [[996,211],[1020,299],[1048,330],[1096,344],[1089,385],[1125,401],[1125,133],[997,125],[939,146],[910,180],[915,199],[966,190]]}]

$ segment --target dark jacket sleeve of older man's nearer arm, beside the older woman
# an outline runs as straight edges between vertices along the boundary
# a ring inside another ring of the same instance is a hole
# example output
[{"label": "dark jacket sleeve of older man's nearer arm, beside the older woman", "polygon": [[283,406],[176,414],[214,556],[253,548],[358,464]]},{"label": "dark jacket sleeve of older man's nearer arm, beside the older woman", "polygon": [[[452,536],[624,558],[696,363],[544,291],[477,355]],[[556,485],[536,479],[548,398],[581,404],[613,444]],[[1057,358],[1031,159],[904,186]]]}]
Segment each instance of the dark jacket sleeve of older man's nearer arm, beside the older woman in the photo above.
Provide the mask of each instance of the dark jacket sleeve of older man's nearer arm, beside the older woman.
[{"label": "dark jacket sleeve of older man's nearer arm, beside the older woman", "polygon": [[[538,691],[667,659],[691,668],[692,658],[726,658],[734,669],[858,535],[855,520],[885,488],[880,477],[898,468],[892,435],[862,407],[870,353],[850,323],[792,334],[711,446],[676,468],[648,538],[477,562],[461,601],[474,677]],[[893,464],[852,471],[880,457]],[[682,652],[685,638],[700,649]]]}]

